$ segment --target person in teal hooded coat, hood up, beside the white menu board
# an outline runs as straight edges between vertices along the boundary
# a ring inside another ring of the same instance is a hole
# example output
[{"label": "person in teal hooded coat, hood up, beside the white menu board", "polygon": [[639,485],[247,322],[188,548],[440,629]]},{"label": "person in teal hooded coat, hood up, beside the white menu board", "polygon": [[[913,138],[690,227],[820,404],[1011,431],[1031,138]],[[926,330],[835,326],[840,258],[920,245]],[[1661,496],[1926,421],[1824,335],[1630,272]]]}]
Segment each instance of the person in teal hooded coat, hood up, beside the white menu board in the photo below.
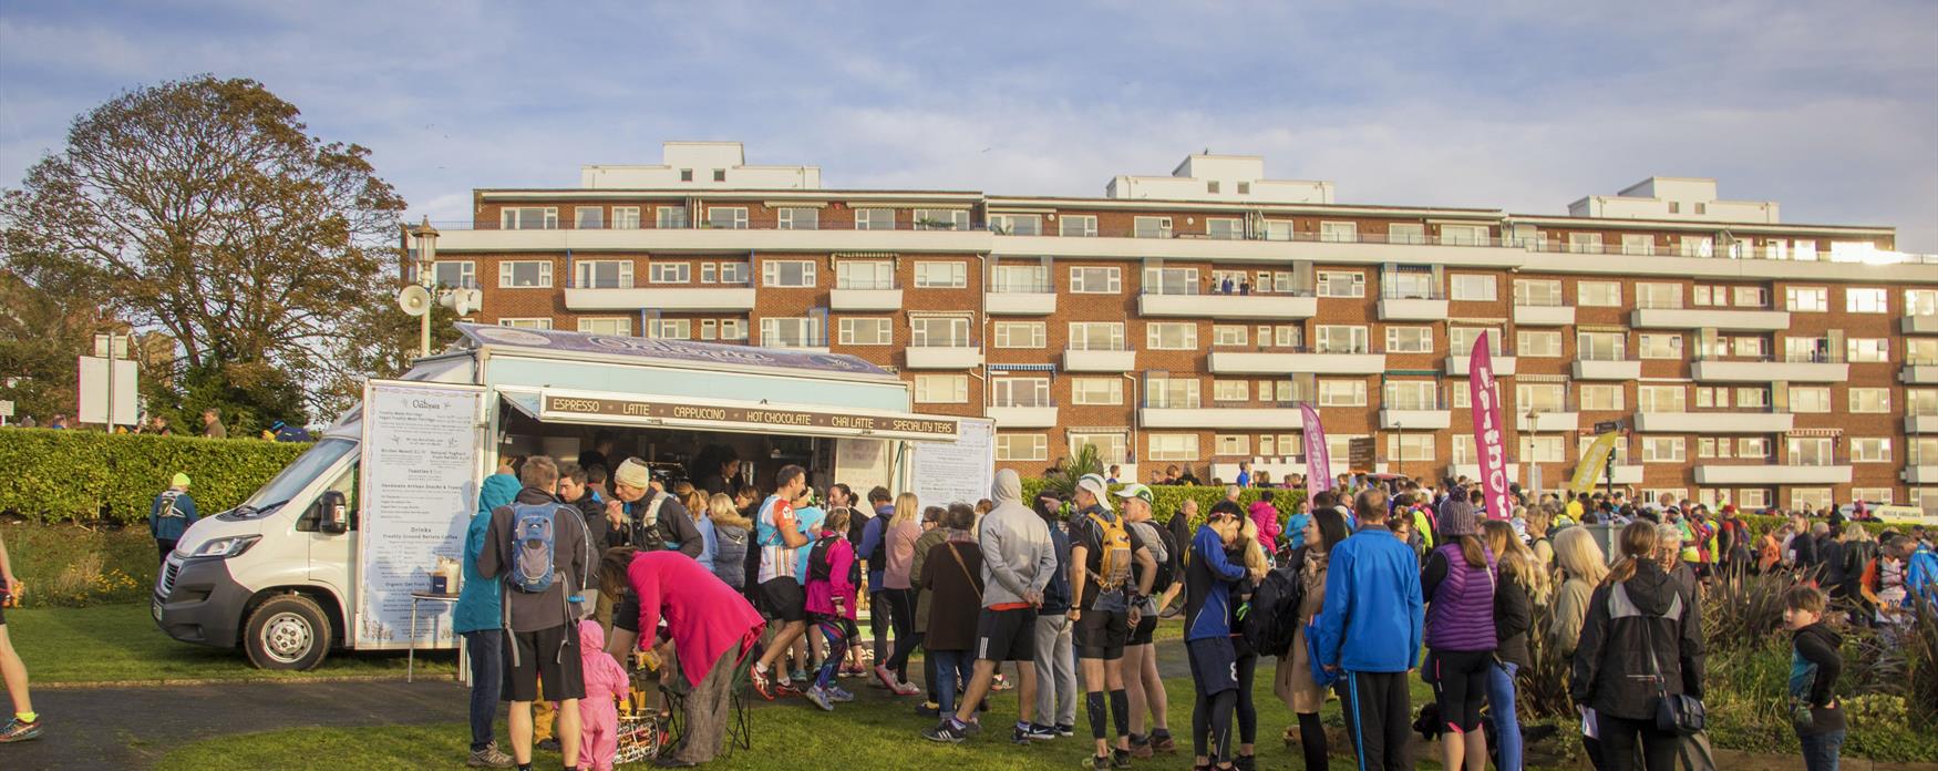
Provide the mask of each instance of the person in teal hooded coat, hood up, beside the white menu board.
[{"label": "person in teal hooded coat, hood up, beside the white menu board", "polygon": [[471,659],[471,757],[473,767],[508,769],[512,756],[498,750],[492,721],[498,717],[498,695],[504,686],[504,614],[498,601],[498,577],[479,573],[479,554],[484,552],[484,533],[490,511],[510,506],[521,484],[510,467],[484,477],[479,486],[479,509],[465,529],[465,583],[452,612],[452,630],[465,637]]}]

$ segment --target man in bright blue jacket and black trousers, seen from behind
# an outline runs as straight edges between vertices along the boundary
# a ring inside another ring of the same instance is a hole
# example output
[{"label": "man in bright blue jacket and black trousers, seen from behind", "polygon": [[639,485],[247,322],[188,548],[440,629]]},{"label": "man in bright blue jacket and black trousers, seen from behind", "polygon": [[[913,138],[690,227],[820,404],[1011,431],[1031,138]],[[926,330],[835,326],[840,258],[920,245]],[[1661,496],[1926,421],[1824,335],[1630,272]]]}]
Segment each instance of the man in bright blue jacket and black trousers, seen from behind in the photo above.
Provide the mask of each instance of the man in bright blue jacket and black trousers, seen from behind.
[{"label": "man in bright blue jacket and black trousers, seen from behind", "polygon": [[1421,659],[1421,562],[1386,527],[1386,492],[1360,492],[1353,508],[1359,533],[1331,550],[1314,647],[1328,672],[1345,674],[1345,726],[1359,767],[1411,769],[1407,672]]}]

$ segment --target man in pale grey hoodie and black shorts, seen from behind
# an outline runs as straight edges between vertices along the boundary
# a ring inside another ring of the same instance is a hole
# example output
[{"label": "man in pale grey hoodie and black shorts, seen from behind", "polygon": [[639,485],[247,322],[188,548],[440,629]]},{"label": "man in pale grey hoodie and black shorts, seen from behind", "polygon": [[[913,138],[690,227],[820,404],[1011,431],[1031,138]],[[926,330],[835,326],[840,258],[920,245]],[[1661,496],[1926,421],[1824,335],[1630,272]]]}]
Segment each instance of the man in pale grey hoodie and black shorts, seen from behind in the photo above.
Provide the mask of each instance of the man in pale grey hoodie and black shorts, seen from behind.
[{"label": "man in pale grey hoodie and black shorts, seen from behind", "polygon": [[[977,618],[975,672],[957,701],[955,715],[922,732],[934,742],[961,742],[969,732],[975,707],[988,695],[996,666],[1016,661],[1019,717],[1010,742],[1054,738],[1056,730],[1031,730],[1037,709],[1037,608],[1043,606],[1043,587],[1056,571],[1056,548],[1050,529],[1023,506],[1023,480],[1016,471],[996,473],[996,508],[983,515],[977,546],[983,548],[983,612]],[[1025,663],[1029,666],[1025,666]]]}]

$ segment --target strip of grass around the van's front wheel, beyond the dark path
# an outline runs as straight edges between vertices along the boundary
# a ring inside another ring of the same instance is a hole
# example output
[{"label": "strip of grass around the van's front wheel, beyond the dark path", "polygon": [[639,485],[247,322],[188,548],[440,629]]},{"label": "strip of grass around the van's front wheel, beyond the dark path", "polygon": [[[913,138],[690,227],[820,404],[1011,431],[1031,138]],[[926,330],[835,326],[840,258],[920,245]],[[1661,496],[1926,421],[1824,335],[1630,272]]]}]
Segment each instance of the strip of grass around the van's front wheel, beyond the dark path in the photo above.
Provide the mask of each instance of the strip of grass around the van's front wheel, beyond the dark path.
[{"label": "strip of grass around the van's front wheel, beyond the dark path", "polygon": [[[302,680],[403,676],[401,653],[335,653],[312,672],[271,672],[242,651],[178,643],[155,628],[147,604],[89,608],[14,608],[8,633],[33,684],[169,682],[169,680]],[[421,653],[419,674],[452,676],[453,653]]]}]

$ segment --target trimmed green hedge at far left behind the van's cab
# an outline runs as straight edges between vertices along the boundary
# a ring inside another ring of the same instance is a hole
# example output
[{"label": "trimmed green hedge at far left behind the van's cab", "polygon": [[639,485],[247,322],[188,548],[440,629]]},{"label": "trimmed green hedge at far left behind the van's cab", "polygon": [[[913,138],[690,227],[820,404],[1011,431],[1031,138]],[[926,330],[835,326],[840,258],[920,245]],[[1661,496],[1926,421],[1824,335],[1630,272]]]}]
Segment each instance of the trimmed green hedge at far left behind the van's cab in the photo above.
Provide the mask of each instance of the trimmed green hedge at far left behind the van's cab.
[{"label": "trimmed green hedge at far left behind the van's cab", "polygon": [[[0,428],[0,511],[31,521],[147,519],[174,473],[207,515],[233,508],[308,444]],[[101,511],[101,506],[109,511]]]}]

